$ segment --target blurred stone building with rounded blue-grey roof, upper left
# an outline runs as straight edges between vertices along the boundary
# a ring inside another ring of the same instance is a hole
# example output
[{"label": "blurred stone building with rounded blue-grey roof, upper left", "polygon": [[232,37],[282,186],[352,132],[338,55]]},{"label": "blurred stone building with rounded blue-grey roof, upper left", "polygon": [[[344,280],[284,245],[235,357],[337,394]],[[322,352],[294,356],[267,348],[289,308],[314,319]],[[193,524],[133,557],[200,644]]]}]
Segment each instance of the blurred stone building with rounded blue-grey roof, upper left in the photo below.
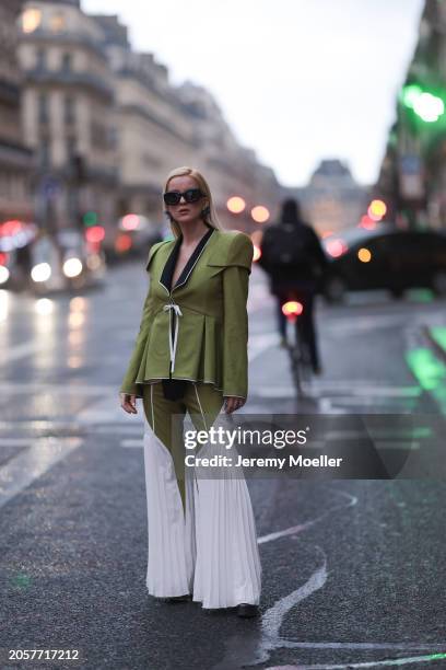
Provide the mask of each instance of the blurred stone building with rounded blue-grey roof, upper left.
[{"label": "blurred stone building with rounded blue-grey roof, upper left", "polygon": [[19,57],[23,125],[38,163],[37,217],[48,230],[94,212],[116,219],[115,92],[95,21],[77,1],[26,2]]}]

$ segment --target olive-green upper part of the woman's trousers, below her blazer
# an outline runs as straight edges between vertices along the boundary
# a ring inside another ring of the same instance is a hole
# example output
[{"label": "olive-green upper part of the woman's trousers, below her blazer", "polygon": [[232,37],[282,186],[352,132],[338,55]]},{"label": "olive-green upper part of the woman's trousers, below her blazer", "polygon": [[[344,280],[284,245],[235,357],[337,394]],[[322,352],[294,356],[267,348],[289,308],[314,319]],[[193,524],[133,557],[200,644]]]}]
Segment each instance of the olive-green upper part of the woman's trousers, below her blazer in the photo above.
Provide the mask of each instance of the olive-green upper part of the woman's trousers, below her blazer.
[{"label": "olive-green upper part of the woman's trousers, below her blazer", "polygon": [[184,418],[189,413],[196,430],[209,430],[223,406],[223,393],[212,384],[188,382],[179,401],[166,400],[160,382],[144,384],[145,418],[156,437],[168,449],[175,465],[183,510],[186,510]]}]

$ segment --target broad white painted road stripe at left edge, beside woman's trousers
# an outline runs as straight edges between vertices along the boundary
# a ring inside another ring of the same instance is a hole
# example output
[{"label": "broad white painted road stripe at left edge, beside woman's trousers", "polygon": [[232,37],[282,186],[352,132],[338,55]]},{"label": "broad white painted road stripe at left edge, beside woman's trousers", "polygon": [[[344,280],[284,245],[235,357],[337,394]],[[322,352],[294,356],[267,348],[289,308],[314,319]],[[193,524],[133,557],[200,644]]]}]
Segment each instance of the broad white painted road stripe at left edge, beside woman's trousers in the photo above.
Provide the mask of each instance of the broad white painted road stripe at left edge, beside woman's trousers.
[{"label": "broad white painted road stripe at left edge, beside woman's trousers", "polygon": [[81,438],[33,438],[31,447],[0,469],[0,507],[82,444]]}]

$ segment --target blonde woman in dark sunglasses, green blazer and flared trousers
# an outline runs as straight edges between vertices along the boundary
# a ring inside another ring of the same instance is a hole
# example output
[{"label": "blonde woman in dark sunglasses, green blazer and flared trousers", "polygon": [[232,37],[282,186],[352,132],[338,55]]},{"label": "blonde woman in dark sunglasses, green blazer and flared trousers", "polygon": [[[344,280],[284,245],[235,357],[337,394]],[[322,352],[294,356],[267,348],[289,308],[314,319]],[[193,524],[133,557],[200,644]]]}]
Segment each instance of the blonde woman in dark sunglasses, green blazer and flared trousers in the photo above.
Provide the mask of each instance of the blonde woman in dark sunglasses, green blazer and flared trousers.
[{"label": "blonde woman in dark sunglasses, green blazer and flared trousers", "polygon": [[175,239],[150,250],[150,288],[120,389],[126,412],[137,414],[137,397],[144,408],[146,587],[171,602],[255,616],[261,566],[245,478],[185,476],[183,439],[186,413],[196,430],[209,430],[223,405],[232,414],[246,402],[253,243],[222,230],[197,170],[173,171],[163,197]]}]

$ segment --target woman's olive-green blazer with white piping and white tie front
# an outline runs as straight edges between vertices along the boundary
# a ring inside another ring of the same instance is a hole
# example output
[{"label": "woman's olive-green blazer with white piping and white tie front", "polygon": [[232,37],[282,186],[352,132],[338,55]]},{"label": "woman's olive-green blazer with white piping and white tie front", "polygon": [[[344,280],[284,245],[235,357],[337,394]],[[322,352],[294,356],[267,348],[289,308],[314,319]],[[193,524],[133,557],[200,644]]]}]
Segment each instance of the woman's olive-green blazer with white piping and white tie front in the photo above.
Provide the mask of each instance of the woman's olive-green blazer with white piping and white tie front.
[{"label": "woman's olive-green blazer with white piping and white tie front", "polygon": [[253,242],[245,233],[218,229],[204,238],[172,289],[180,239],[151,247],[149,292],[120,392],[142,397],[144,382],[172,378],[247,397]]}]

